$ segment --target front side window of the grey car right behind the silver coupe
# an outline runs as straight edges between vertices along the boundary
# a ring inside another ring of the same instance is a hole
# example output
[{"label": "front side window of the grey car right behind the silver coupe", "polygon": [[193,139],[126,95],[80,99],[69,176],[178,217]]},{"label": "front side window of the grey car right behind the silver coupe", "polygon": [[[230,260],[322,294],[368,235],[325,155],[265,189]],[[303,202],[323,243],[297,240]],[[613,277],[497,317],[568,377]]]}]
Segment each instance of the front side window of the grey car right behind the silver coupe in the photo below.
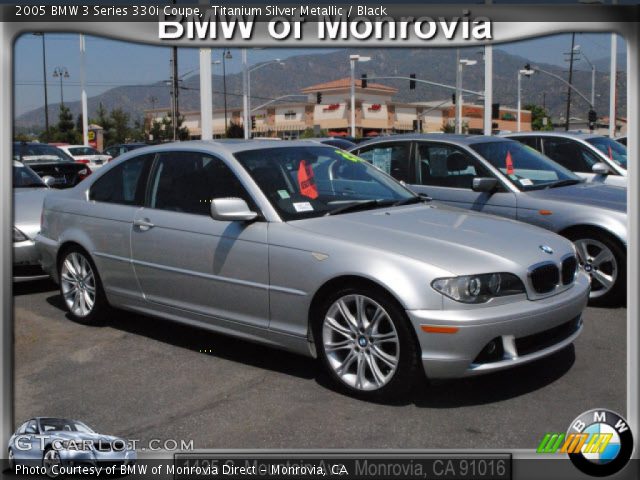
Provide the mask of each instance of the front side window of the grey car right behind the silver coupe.
[{"label": "front side window of the grey car right behind the silver coupe", "polygon": [[415,161],[419,185],[471,190],[474,178],[494,176],[474,157],[452,145],[418,143]]}]

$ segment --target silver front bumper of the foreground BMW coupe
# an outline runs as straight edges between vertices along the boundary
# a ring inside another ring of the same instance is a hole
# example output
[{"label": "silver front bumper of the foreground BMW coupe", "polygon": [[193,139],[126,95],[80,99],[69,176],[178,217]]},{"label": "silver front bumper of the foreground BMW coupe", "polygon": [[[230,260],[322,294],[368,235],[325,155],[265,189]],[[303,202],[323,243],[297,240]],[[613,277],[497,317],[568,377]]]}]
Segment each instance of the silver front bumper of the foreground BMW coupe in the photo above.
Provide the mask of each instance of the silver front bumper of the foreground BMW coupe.
[{"label": "silver front bumper of the foreground BMW coupe", "polygon": [[[468,310],[408,310],[429,378],[457,378],[515,367],[557,352],[582,331],[589,278],[580,272],[568,290],[541,300],[523,300]],[[456,333],[426,333],[421,326],[455,327]],[[490,342],[499,357],[479,361]],[[520,348],[520,351],[519,351]]]}]

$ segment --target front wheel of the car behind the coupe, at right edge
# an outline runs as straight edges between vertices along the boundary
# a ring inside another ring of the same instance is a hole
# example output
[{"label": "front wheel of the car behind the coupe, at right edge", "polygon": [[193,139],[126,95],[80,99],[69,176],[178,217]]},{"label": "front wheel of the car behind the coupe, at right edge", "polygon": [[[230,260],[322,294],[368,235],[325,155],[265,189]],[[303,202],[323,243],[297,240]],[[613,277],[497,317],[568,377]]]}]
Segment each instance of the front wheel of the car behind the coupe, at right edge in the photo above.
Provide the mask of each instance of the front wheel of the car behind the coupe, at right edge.
[{"label": "front wheel of the car behind the coupe, at right edge", "polygon": [[581,230],[568,236],[578,252],[578,262],[591,277],[589,305],[618,306],[627,293],[627,252],[610,235]]}]

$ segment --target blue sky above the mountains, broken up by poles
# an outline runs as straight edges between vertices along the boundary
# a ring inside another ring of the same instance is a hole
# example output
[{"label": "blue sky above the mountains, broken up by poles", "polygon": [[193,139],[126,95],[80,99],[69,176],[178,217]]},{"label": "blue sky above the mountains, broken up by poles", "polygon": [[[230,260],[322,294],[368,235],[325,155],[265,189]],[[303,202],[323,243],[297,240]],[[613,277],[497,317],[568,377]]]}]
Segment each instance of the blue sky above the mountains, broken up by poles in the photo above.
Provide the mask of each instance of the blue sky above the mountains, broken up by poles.
[{"label": "blue sky above the mountains, broken up by poles", "polygon": [[[576,44],[582,46],[587,57],[594,61],[609,56],[609,34],[578,34]],[[570,35],[555,35],[511,44],[497,48],[514,55],[526,57],[533,62],[564,64],[563,52],[569,51]],[[624,50],[624,40],[619,39],[618,51]],[[70,77],[63,82],[65,101],[80,98],[80,54],[77,34],[46,35],[47,83],[50,103],[60,101],[60,84],[52,77],[55,67],[63,66]],[[148,84],[169,79],[170,48],[133,44],[98,37],[86,38],[87,94],[98,95],[119,85]],[[328,52],[328,49],[262,49],[249,51],[249,63],[260,63],[274,58],[285,59],[305,53]],[[452,51],[453,52],[453,51]],[[221,49],[213,50],[213,59],[220,59]],[[453,53],[452,53],[453,54]],[[227,61],[227,73],[241,68],[240,51],[232,49],[233,58]],[[25,34],[14,46],[16,115],[21,115],[44,105],[42,72],[42,38]],[[179,75],[198,68],[198,50],[184,48],[179,53]],[[577,68],[587,69],[581,62]],[[220,66],[213,67],[220,74]]]}]

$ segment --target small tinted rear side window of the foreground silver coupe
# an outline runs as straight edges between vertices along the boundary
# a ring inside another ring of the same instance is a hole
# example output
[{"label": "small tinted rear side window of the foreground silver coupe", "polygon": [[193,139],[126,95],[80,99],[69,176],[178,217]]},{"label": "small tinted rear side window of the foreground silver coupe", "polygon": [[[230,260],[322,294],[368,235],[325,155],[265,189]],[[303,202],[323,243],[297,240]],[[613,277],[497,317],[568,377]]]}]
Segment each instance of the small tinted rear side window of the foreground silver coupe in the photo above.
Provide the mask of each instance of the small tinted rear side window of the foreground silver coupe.
[{"label": "small tinted rear side window of the foreground silver coupe", "polygon": [[89,191],[89,200],[141,206],[147,173],[155,154],[132,158],[98,179]]}]

